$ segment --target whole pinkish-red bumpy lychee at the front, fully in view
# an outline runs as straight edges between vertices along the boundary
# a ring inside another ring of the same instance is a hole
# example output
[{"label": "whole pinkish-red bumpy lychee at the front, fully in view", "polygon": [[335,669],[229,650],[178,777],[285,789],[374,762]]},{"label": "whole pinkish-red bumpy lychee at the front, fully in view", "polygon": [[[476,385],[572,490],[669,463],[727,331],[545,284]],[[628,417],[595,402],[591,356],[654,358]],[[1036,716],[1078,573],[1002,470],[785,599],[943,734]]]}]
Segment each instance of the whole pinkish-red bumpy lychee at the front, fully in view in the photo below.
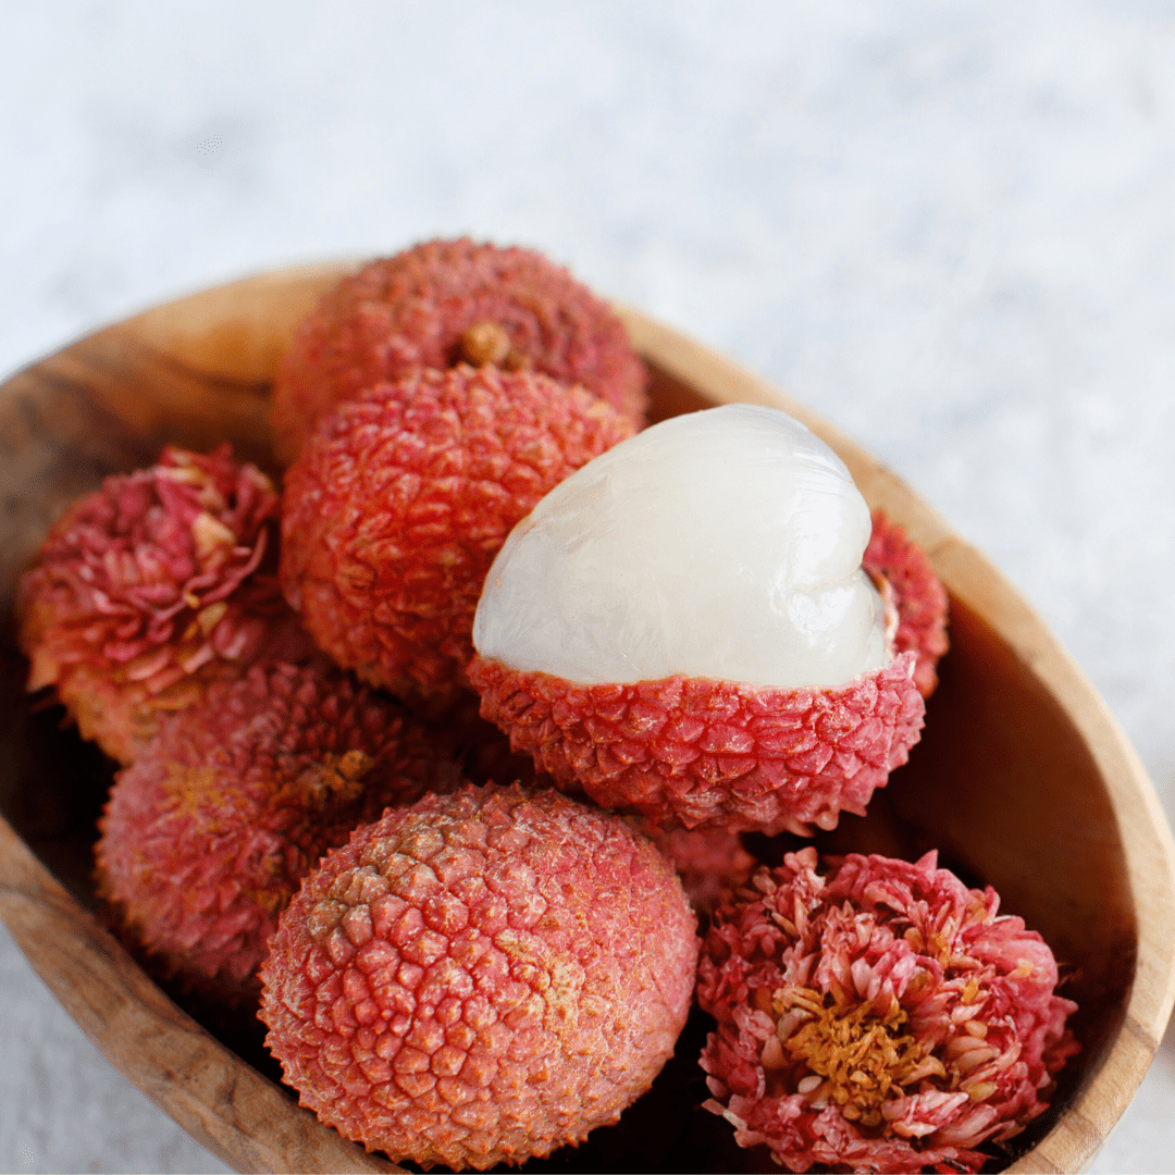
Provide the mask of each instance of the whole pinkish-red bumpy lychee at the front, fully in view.
[{"label": "whole pinkish-red bumpy lychee at the front, fully in view", "polygon": [[469,787],[388,812],[290,904],[262,967],[301,1102],[425,1169],[524,1162],[613,1122],[673,1052],[693,914],[623,820]]}]

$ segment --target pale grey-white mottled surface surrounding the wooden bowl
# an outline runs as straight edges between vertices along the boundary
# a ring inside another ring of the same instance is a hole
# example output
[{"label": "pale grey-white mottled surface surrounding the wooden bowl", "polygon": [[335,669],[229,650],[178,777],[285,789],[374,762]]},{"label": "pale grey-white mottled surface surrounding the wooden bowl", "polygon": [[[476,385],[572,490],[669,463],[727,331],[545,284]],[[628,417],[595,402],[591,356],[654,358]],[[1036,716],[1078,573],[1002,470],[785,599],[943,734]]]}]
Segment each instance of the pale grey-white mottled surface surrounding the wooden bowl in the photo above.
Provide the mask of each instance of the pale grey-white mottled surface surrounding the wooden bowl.
[{"label": "pale grey-white mottled surface surrounding the wooden bowl", "polygon": [[[0,370],[251,271],[524,243],[808,401],[1175,812],[1175,6],[0,4]],[[0,931],[0,1169],[222,1170]],[[1175,1171],[1170,1034],[1095,1171]]]}]

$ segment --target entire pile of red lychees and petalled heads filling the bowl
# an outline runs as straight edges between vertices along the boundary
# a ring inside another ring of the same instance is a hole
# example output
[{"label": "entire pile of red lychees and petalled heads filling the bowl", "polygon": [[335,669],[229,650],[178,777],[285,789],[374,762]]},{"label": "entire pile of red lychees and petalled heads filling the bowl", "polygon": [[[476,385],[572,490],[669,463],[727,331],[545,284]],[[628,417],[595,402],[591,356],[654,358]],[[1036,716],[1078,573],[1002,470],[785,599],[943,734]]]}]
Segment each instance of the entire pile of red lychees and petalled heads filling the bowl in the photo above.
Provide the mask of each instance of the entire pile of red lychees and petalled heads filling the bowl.
[{"label": "entire pile of red lychees and petalled heads filling the bowl", "polygon": [[803,425],[643,429],[646,378],[539,254],[430,242],[298,329],[281,492],[167,449],[72,506],[21,642],[122,765],[99,894],[395,1160],[582,1141],[697,991],[740,1144],[979,1170],[1076,1049],[1049,948],[933,854],[768,870],[739,835],[865,812],[918,741],[946,595]]}]

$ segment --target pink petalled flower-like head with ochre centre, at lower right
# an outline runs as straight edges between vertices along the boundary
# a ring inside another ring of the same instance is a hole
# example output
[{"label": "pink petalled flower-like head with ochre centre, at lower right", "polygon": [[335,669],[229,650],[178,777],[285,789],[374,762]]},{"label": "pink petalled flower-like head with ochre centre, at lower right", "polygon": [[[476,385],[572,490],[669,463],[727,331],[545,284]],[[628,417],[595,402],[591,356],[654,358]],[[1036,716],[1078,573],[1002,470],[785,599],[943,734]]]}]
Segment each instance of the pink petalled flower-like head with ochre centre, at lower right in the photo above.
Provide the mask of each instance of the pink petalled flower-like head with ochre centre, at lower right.
[{"label": "pink petalled flower-like head with ochre centre, at lower right", "polygon": [[1041,936],[936,862],[851,855],[820,877],[805,848],[714,914],[706,1107],[741,1146],[792,1171],[976,1171],[981,1143],[1045,1110],[1076,1005]]}]

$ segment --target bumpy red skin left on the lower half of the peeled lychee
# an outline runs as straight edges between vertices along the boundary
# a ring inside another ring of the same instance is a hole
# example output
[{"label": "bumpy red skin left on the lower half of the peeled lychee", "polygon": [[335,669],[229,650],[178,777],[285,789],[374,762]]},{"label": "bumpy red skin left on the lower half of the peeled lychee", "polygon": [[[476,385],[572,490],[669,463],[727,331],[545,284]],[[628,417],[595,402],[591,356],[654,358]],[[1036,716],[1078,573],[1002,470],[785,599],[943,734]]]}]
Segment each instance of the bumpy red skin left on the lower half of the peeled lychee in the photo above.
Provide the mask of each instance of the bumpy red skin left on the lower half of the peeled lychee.
[{"label": "bumpy red skin left on the lower half of the peeled lychee", "polygon": [[834,828],[921,737],[914,654],[837,689],[772,690],[707,678],[580,685],[475,657],[482,716],[558,787],[665,828]]}]

